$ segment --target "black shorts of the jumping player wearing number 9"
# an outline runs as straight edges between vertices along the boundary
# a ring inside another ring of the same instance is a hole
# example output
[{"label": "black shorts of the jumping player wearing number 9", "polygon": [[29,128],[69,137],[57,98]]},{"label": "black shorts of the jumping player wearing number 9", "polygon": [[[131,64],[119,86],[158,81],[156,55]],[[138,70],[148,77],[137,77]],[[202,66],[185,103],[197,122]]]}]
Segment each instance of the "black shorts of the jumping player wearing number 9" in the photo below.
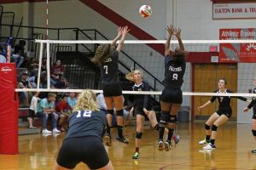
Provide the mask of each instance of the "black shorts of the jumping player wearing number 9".
[{"label": "black shorts of the jumping player wearing number 9", "polygon": [[163,102],[174,104],[183,103],[183,92],[180,88],[164,88],[160,97]]}]

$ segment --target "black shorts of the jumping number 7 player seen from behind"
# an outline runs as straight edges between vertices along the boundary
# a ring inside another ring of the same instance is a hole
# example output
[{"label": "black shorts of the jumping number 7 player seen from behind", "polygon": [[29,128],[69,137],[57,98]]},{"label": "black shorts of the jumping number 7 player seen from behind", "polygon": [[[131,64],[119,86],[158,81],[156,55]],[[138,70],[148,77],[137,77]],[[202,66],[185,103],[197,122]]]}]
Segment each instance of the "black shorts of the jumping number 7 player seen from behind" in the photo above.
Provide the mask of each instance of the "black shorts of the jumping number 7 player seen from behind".
[{"label": "black shorts of the jumping number 7 player seen from behind", "polygon": [[120,96],[122,95],[122,88],[119,83],[111,85],[103,85],[104,97]]}]

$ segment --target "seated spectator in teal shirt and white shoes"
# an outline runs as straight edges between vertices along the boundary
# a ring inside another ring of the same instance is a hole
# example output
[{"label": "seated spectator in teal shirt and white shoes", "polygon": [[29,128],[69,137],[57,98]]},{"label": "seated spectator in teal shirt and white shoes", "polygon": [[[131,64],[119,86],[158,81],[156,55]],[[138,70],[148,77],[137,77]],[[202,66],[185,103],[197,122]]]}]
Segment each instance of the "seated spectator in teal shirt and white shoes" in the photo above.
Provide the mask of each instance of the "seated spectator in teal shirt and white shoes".
[{"label": "seated spectator in teal shirt and white shoes", "polygon": [[[48,98],[41,99],[41,101],[38,103],[37,116],[43,117],[42,133],[61,133],[61,131],[57,129],[58,115],[55,113],[55,104],[54,104],[55,97],[56,97],[56,94],[49,93]],[[47,120],[49,116],[51,116],[51,119],[52,119],[52,126],[53,126],[52,132],[47,129]]]}]

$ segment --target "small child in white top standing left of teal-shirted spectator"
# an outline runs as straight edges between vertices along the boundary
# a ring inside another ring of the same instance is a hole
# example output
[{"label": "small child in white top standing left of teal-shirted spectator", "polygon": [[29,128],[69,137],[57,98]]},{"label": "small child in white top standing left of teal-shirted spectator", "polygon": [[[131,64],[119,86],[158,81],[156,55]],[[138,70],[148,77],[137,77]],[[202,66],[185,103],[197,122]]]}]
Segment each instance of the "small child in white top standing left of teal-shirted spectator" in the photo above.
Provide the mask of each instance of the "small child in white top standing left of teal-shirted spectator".
[{"label": "small child in white top standing left of teal-shirted spectator", "polygon": [[36,128],[33,126],[32,122],[33,122],[33,118],[37,113],[38,101],[40,101],[40,98],[38,98],[38,95],[39,95],[39,92],[33,92],[33,97],[29,107],[29,116],[27,117],[27,121],[29,123],[28,128]]}]

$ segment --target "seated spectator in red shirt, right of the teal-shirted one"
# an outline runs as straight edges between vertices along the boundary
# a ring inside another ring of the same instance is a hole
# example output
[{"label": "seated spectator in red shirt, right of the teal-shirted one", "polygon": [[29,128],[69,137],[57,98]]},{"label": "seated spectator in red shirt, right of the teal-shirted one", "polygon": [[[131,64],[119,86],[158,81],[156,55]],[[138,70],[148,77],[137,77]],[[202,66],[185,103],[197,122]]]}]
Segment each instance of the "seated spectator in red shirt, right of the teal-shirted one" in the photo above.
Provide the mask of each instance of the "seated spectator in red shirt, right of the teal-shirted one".
[{"label": "seated spectator in red shirt, right of the teal-shirted one", "polygon": [[67,129],[67,119],[71,114],[70,108],[67,104],[67,94],[64,94],[61,98],[61,101],[57,104],[56,111],[59,114],[61,120],[59,122],[59,126],[61,127],[61,131],[65,132]]}]

